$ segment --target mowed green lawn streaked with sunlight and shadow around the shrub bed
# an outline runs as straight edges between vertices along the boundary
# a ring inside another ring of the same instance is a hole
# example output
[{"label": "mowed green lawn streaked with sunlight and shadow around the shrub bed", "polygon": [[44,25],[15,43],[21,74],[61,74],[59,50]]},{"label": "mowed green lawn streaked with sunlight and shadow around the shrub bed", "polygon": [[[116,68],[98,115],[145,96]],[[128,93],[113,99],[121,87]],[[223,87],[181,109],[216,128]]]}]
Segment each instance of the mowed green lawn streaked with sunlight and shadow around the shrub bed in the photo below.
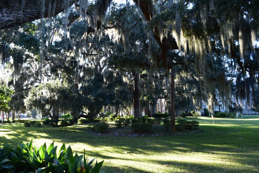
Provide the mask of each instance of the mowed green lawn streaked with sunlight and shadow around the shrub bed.
[{"label": "mowed green lawn streaked with sunlight and shadow around the shrub bed", "polygon": [[86,125],[62,128],[0,126],[0,146],[33,138],[35,146],[54,141],[74,152],[104,160],[106,172],[259,172],[259,117],[185,118],[200,122],[192,135],[122,137],[86,133]]}]

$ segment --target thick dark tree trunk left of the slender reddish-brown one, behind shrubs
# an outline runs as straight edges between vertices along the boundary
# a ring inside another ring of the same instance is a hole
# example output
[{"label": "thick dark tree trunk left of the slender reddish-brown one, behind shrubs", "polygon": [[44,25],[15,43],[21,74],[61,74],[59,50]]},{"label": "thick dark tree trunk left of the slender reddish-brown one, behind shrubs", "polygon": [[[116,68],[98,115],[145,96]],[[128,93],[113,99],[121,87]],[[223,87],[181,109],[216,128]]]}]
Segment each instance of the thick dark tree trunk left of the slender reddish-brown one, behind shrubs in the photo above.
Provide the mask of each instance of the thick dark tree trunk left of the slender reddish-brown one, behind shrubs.
[{"label": "thick dark tree trunk left of the slender reddish-brown one, behind shrubs", "polygon": [[134,77],[134,93],[133,93],[133,107],[134,107],[134,117],[138,118],[141,117],[140,113],[140,101],[139,101],[139,77],[138,73],[136,71],[132,72],[133,77]]}]

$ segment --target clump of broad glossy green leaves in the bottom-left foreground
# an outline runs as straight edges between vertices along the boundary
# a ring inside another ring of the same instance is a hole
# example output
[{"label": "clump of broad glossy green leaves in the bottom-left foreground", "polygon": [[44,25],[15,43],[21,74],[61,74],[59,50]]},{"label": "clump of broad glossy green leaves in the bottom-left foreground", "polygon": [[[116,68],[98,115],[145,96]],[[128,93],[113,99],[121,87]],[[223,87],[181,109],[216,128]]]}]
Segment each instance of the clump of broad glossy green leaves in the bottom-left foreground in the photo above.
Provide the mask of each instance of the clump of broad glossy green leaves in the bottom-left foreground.
[{"label": "clump of broad glossy green leaves in the bottom-left foreground", "polygon": [[[67,173],[97,173],[103,161],[92,165],[95,158],[89,161],[84,155],[73,155],[72,149],[65,144],[61,146],[58,154],[54,142],[47,148],[46,143],[36,148],[32,139],[26,144],[23,141],[12,148],[10,145],[0,148],[0,172],[67,172]],[[102,171],[104,172],[104,171]]]}]

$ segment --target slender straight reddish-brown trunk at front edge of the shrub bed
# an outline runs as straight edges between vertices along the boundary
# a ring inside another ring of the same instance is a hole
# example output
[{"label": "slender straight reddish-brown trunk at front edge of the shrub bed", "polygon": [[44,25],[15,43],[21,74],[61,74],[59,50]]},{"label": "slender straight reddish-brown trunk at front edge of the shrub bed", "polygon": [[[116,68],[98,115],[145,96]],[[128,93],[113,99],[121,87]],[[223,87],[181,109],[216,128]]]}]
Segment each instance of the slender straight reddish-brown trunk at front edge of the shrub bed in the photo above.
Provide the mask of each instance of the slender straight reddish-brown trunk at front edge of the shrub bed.
[{"label": "slender straight reddish-brown trunk at front edge of the shrub bed", "polygon": [[174,66],[171,68],[171,131],[175,132],[175,75]]}]

